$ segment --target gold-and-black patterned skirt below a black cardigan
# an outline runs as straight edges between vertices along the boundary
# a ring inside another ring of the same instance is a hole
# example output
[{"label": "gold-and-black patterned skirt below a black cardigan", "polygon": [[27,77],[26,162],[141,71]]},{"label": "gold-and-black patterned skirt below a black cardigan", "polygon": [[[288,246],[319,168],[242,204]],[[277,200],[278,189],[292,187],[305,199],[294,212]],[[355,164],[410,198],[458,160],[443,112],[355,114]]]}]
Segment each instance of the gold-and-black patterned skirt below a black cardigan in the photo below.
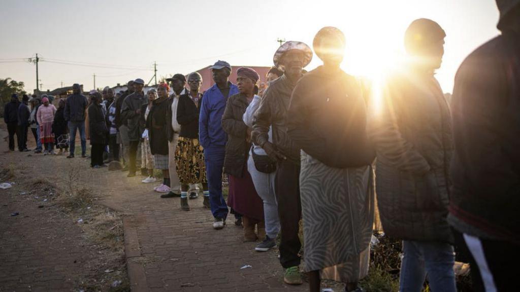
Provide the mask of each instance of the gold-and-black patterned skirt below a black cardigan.
[{"label": "gold-and-black patterned skirt below a black cardigan", "polygon": [[199,139],[179,137],[175,148],[175,168],[182,184],[207,182],[204,152]]}]

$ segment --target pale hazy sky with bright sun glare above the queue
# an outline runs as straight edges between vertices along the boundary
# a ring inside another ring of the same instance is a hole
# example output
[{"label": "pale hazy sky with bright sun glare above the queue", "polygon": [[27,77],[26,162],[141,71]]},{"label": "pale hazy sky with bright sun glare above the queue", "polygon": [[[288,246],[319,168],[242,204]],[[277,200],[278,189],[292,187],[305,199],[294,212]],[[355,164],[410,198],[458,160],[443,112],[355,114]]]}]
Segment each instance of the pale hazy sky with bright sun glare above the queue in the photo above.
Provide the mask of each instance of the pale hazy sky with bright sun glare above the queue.
[{"label": "pale hazy sky with bright sun glare above the queue", "polygon": [[[271,66],[277,39],[309,46],[323,26],[346,36],[342,68],[372,77],[404,54],[403,36],[417,18],[446,31],[445,55],[436,77],[451,92],[460,63],[499,34],[493,0],[0,0],[0,78],[36,87],[41,57],[43,90],[73,83],[84,90],[130,79],[148,82],[188,74],[216,60]],[[320,65],[313,57],[306,67]],[[152,83],[153,84],[153,81]]]}]

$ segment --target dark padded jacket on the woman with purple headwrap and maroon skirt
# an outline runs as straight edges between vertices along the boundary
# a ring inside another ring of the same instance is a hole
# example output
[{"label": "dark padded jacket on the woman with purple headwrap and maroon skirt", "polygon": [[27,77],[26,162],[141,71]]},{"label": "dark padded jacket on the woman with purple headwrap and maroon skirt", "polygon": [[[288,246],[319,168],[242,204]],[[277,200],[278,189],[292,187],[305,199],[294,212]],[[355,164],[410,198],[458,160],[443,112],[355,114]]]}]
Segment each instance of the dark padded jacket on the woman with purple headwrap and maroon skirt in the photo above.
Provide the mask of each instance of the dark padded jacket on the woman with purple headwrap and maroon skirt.
[{"label": "dark padded jacket on the woman with purple headwrap and maroon skirt", "polygon": [[242,177],[251,149],[251,142],[246,141],[248,126],[242,119],[248,105],[249,102],[244,95],[232,95],[222,115],[222,128],[228,135],[224,172],[236,177]]}]

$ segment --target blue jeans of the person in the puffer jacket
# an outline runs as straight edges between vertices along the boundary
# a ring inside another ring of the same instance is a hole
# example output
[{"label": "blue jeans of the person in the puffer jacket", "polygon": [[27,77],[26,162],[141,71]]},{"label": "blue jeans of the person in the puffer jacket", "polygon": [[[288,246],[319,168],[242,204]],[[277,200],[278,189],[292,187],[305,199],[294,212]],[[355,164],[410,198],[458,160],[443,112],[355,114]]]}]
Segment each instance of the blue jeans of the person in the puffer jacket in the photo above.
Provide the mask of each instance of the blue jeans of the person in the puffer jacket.
[{"label": "blue jeans of the person in the puffer jacket", "polygon": [[404,257],[399,277],[400,292],[420,292],[426,274],[432,292],[456,292],[453,246],[441,242],[402,241]]}]

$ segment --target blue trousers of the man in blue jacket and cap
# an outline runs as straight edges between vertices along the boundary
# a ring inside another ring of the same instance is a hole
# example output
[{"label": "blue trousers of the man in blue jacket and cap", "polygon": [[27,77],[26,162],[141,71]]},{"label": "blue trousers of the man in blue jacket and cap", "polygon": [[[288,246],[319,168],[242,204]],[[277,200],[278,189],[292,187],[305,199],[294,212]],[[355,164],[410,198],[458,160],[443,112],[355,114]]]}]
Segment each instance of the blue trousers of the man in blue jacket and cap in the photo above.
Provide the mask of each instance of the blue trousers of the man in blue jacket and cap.
[{"label": "blue trousers of the man in blue jacket and cap", "polygon": [[215,218],[226,220],[228,207],[222,195],[222,169],[224,167],[224,146],[214,146],[204,149],[204,162],[206,165],[207,188],[210,191],[211,213]]}]

